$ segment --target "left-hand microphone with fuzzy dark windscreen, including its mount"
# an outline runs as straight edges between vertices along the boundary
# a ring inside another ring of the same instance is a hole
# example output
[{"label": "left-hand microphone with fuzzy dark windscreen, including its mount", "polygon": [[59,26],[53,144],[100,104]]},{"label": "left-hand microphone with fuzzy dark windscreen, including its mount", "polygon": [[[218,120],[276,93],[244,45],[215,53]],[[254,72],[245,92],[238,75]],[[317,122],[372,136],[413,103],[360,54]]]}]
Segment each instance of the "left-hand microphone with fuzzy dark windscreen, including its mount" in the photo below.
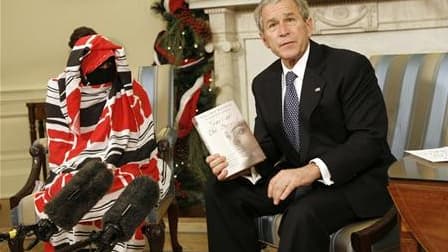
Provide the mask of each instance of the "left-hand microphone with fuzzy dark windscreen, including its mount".
[{"label": "left-hand microphone with fuzzy dark windscreen, including its mount", "polygon": [[46,219],[32,225],[19,225],[8,233],[1,234],[1,240],[35,235],[27,250],[39,241],[49,241],[58,232],[58,227],[70,230],[101,197],[113,182],[113,175],[99,159],[84,162],[79,172],[45,205]]}]

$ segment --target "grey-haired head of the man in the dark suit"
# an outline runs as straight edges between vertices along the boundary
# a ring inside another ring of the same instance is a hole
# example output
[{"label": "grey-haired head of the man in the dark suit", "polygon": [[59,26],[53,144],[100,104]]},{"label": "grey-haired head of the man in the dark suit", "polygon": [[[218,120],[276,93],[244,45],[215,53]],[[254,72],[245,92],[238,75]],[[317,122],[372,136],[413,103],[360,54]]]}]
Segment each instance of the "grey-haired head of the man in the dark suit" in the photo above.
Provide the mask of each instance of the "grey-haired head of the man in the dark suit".
[{"label": "grey-haired head of the man in the dark suit", "polygon": [[292,0],[268,4],[261,11],[263,31],[260,36],[266,47],[292,68],[305,52],[313,30],[312,20],[304,20]]}]

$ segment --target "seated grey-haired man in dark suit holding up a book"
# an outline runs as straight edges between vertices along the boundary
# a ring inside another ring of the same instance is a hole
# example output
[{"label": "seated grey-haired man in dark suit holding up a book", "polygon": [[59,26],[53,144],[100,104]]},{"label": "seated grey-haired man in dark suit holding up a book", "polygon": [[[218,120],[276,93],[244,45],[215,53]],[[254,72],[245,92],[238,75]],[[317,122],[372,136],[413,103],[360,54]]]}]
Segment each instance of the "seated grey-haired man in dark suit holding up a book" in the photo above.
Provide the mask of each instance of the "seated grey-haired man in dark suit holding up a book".
[{"label": "seated grey-haired man in dark suit holding up a book", "polygon": [[283,212],[280,252],[328,251],[329,235],[391,206],[387,115],[374,70],[358,53],[312,40],[304,0],[262,0],[255,19],[280,59],[253,80],[262,178],[224,180],[225,157],[207,157],[209,250],[257,251],[254,218]]}]

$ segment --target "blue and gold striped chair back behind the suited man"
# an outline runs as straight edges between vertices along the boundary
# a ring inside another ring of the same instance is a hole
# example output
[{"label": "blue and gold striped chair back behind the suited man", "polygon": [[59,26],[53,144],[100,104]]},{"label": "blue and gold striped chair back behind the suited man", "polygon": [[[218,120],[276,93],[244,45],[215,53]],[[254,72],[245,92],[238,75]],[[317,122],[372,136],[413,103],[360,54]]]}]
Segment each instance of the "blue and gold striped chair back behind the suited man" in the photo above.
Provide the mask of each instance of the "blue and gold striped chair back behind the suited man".
[{"label": "blue and gold striped chair back behind the suited man", "polygon": [[[389,117],[389,143],[407,149],[448,144],[448,53],[372,56]],[[398,83],[398,84],[397,84]]]}]

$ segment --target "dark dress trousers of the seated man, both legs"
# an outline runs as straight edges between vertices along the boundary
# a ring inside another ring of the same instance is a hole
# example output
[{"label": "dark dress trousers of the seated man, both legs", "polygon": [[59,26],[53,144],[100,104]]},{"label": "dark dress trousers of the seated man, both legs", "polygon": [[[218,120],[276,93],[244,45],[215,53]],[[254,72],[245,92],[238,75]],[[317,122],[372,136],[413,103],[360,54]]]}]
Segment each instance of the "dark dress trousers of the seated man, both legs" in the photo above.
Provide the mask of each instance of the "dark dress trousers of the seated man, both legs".
[{"label": "dark dress trousers of the seated man, both legs", "polygon": [[210,252],[260,251],[254,219],[262,215],[284,213],[279,252],[328,251],[330,234],[356,220],[340,188],[317,184],[276,206],[267,197],[267,183],[210,179],[205,192]]}]

